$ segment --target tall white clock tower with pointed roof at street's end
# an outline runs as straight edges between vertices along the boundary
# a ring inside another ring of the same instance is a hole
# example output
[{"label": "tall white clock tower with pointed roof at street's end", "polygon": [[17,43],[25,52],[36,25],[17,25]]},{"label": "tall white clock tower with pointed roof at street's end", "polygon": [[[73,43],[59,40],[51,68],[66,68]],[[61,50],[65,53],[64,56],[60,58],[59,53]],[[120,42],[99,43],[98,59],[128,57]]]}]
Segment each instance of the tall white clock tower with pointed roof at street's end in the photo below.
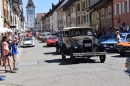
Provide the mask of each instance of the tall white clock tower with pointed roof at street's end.
[{"label": "tall white clock tower with pointed roof at street's end", "polygon": [[32,0],[28,0],[27,6],[27,27],[35,29],[35,5]]}]

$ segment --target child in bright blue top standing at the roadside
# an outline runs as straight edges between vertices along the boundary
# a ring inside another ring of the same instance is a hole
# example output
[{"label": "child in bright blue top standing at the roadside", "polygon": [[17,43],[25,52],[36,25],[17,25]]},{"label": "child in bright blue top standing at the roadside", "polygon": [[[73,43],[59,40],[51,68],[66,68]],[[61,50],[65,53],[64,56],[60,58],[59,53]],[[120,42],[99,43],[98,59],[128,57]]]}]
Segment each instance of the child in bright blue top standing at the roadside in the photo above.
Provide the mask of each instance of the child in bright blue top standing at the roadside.
[{"label": "child in bright blue top standing at the roadside", "polygon": [[17,63],[17,54],[18,54],[18,42],[16,39],[14,39],[12,41],[12,44],[11,44],[11,48],[12,48],[12,57],[13,57],[13,70],[18,70],[18,68],[16,68],[16,63]]}]

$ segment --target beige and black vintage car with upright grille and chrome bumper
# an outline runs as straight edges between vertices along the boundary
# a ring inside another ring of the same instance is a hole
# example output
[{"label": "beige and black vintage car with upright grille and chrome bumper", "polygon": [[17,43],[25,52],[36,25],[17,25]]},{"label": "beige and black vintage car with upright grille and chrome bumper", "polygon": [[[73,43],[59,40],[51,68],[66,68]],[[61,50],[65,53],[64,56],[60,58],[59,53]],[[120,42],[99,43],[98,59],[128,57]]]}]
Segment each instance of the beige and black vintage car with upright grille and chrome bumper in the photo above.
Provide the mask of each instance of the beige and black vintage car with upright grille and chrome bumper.
[{"label": "beige and black vintage car with upright grille and chrome bumper", "polygon": [[105,62],[106,52],[100,46],[98,41],[93,35],[91,27],[69,27],[69,33],[64,32],[62,43],[62,59],[70,56],[70,62],[75,63],[76,57],[99,56],[101,63]]}]

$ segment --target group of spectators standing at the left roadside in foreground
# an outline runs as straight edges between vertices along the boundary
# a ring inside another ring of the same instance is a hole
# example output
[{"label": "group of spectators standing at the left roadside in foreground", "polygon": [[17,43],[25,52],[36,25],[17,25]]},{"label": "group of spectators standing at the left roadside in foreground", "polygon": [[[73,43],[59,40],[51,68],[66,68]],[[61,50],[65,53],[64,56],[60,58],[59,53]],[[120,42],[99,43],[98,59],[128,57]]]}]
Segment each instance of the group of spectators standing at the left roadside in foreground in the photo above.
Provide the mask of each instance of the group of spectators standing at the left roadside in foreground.
[{"label": "group of spectators standing at the left roadside in foreground", "polygon": [[[16,63],[21,37],[17,32],[14,35],[11,32],[0,34],[0,65],[4,66],[5,73],[16,73],[16,70],[18,70]],[[13,65],[11,59],[13,60]],[[7,70],[7,67],[10,70]]]}]

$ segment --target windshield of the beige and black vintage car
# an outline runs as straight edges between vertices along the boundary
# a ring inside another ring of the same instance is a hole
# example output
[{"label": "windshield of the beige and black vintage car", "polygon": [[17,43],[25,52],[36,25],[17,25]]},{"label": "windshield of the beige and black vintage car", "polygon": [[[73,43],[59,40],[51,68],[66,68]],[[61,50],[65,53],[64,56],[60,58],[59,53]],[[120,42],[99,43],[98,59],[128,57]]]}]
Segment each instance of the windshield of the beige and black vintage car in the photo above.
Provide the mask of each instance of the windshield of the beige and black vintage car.
[{"label": "windshield of the beige and black vintage car", "polygon": [[70,30],[70,35],[71,36],[87,36],[87,35],[92,35],[92,29],[74,29],[74,30]]}]

